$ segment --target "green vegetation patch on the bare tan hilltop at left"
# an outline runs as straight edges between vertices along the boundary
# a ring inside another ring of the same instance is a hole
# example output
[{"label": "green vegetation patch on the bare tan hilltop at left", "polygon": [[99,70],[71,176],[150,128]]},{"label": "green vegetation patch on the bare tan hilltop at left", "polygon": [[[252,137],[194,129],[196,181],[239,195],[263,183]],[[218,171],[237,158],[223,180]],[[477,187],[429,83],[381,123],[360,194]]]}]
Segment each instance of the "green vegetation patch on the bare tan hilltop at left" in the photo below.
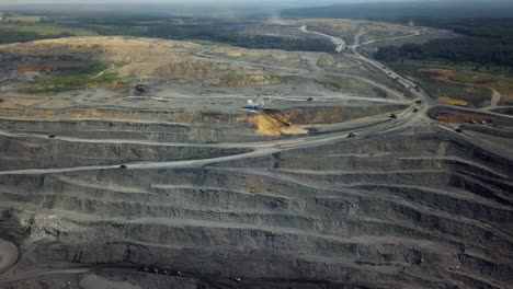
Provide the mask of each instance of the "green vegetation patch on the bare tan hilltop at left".
[{"label": "green vegetation patch on the bare tan hilltop at left", "polygon": [[111,67],[112,66],[109,63],[94,63],[86,68],[58,72],[26,88],[24,92],[57,93],[126,80],[125,78],[118,77],[117,73],[109,72],[107,69]]}]

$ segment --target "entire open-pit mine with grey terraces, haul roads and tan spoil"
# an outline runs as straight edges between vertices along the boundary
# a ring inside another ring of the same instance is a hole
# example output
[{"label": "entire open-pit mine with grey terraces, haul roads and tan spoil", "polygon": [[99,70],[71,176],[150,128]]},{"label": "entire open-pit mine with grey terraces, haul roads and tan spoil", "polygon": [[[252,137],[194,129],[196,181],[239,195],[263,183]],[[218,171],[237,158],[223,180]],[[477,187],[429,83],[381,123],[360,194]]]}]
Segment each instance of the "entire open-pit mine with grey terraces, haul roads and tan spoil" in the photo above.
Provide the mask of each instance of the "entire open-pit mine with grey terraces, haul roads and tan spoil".
[{"label": "entire open-pit mine with grey terraces, haul roads and tan spoil", "polygon": [[511,107],[358,53],[435,30],[350,24],[0,46],[0,288],[512,288]]}]

